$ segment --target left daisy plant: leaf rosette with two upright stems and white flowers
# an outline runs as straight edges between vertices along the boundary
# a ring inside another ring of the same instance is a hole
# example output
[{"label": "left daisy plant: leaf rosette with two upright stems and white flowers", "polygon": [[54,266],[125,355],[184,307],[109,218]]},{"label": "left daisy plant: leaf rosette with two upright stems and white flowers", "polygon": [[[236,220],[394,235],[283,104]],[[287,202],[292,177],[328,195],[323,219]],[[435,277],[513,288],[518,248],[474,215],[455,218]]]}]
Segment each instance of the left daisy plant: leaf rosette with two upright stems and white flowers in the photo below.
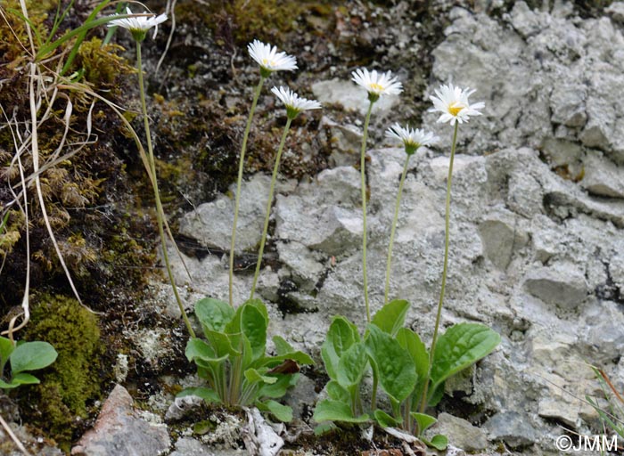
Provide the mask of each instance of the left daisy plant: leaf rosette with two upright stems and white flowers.
[{"label": "left daisy plant: leaf rosette with two upright stems and white flowers", "polygon": [[250,290],[250,298],[234,307],[234,247],[236,223],[240,208],[242,172],[247,149],[251,122],[259,95],[267,77],[277,70],[297,68],[294,57],[278,53],[277,48],[255,40],[248,47],[251,58],[259,64],[260,80],[251,102],[250,115],[242,138],[241,157],[234,202],[234,224],[230,248],[229,303],[207,297],[195,305],[195,315],[201,322],[204,337],[192,337],[186,346],[186,357],[195,362],[198,375],[208,387],[187,388],[180,395],[198,395],[208,403],[223,403],[227,406],[255,405],[260,411],[267,411],[282,421],[292,419],[291,408],[276,402],[286,390],[297,381],[300,365],[312,364],[308,354],[295,350],[283,338],[275,336],[275,355],[268,355],[267,307],[254,299],[260,265],[267,240],[269,217],[273,205],[275,183],[280,160],[290,130],[291,122],[304,110],[317,110],[321,105],[307,100],[284,87],[274,87],[273,94],[286,108],[286,125],[283,129],[275,155],[275,164],[267,198],[267,211],[259,245],[258,261]]}]

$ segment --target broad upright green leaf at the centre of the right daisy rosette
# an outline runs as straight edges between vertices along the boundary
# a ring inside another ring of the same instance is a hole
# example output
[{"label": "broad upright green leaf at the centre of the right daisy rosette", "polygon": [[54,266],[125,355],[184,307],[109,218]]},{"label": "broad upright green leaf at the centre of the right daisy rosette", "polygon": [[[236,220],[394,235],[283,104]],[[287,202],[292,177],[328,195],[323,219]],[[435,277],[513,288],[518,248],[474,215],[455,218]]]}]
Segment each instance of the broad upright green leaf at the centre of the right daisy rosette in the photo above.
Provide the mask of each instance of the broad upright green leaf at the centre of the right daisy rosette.
[{"label": "broad upright green leaf at the centre of the right daisy rosette", "polygon": [[365,341],[368,354],[373,358],[379,374],[379,383],[391,399],[402,402],[416,386],[416,367],[406,349],[395,338],[368,325]]}]

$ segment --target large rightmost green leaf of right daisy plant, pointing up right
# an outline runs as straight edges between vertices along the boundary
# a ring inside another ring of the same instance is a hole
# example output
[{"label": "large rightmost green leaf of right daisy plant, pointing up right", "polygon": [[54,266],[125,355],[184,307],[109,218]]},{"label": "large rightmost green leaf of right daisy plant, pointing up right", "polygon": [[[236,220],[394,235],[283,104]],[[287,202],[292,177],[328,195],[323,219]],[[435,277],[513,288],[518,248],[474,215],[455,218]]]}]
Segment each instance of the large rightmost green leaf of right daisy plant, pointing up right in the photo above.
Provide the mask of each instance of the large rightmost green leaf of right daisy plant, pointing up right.
[{"label": "large rightmost green leaf of right daisy plant, pointing up right", "polygon": [[500,343],[497,332],[479,323],[459,323],[440,336],[431,366],[435,390],[441,382],[487,356]]}]

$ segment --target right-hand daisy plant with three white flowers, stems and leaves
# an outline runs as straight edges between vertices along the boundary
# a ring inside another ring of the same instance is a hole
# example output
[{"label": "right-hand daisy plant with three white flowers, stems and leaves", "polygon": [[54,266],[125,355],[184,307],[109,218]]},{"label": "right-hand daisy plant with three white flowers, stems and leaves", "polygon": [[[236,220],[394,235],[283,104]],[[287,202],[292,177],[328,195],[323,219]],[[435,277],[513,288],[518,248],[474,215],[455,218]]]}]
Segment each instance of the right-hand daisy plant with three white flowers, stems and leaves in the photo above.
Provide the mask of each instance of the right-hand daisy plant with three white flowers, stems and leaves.
[{"label": "right-hand daisy plant with three white flowers, stems and leaves", "polygon": [[[380,96],[400,94],[402,88],[396,77],[388,73],[369,72],[358,69],[353,72],[353,80],[368,93],[369,107],[365,117],[361,151],[362,212],[363,212],[363,258],[364,301],[367,325],[363,335],[357,326],[343,316],[336,316],[327,332],[322,348],[325,369],[330,377],[326,386],[328,399],[316,404],[314,419],[322,423],[318,431],[335,426],[334,423],[366,423],[374,420],[382,428],[402,428],[419,437],[424,443],[439,450],[447,447],[446,436],[434,436],[431,441],[423,439],[423,432],[436,422],[425,413],[427,407],[435,406],[444,394],[445,381],[479,361],[494,350],[500,336],[480,323],[463,322],[451,326],[439,336],[439,322],[444,302],[447,281],[451,180],[455,158],[457,131],[460,123],[470,116],[480,115],[484,104],[468,102],[473,91],[463,90],[453,85],[442,85],[437,96],[431,97],[433,110],[442,115],[439,122],[449,122],[455,126],[451,146],[447,178],[446,223],[444,264],[436,322],[427,350],[418,334],[404,327],[409,303],[402,299],[390,302],[390,271],[392,243],[398,222],[400,199],[405,183],[408,160],[423,145],[435,142],[433,134],[422,130],[403,128],[395,124],[387,135],[402,142],[406,151],[406,162],[398,185],[390,244],[386,265],[384,305],[371,318],[368,302],[366,278],[366,194],[365,194],[365,143],[368,124],[374,102]],[[360,391],[367,372],[373,378],[373,391],[370,404],[362,403]],[[390,410],[377,406],[378,389],[390,400]]]}]

